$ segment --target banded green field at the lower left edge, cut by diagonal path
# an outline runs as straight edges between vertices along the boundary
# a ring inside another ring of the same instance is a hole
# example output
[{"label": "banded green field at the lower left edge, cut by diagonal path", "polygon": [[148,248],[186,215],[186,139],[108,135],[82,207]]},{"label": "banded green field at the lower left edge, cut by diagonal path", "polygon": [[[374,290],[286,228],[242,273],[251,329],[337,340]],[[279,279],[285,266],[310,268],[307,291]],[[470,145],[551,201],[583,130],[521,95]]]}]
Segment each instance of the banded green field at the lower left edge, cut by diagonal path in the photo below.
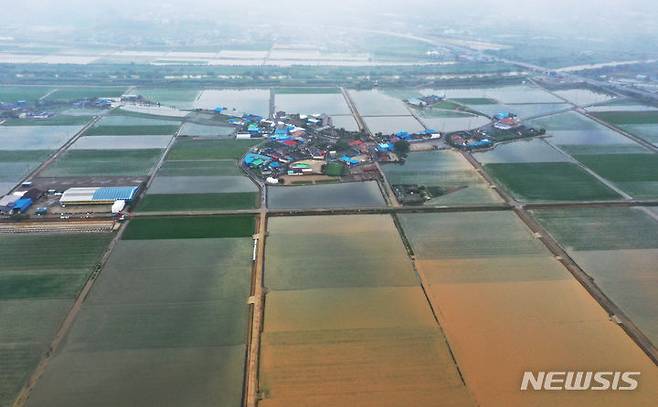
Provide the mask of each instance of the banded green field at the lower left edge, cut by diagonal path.
[{"label": "banded green field at the lower left edge, cut by diagonal path", "polygon": [[0,405],[12,405],[111,238],[0,234]]}]

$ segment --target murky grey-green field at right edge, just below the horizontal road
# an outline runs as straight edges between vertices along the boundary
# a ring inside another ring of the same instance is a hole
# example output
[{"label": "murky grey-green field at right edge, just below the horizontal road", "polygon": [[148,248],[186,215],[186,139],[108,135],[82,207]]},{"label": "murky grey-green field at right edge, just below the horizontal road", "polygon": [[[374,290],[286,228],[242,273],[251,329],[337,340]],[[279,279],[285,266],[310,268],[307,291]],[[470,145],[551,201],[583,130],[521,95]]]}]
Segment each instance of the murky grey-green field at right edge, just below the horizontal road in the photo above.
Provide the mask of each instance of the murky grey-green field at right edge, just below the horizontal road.
[{"label": "murky grey-green field at right edge, just below the horizontal road", "polygon": [[533,215],[570,250],[658,248],[656,221],[637,208],[536,210]]}]

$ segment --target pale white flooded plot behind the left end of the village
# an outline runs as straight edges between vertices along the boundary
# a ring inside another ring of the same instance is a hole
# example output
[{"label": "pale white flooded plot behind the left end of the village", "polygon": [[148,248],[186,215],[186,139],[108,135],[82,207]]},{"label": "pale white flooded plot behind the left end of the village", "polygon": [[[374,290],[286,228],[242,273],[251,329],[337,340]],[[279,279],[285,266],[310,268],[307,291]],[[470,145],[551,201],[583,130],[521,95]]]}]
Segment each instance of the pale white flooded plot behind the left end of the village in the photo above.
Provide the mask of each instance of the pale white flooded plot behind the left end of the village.
[{"label": "pale white flooded plot behind the left end of the village", "polygon": [[195,109],[214,110],[223,107],[227,112],[270,115],[269,89],[209,89],[204,90],[194,102]]}]

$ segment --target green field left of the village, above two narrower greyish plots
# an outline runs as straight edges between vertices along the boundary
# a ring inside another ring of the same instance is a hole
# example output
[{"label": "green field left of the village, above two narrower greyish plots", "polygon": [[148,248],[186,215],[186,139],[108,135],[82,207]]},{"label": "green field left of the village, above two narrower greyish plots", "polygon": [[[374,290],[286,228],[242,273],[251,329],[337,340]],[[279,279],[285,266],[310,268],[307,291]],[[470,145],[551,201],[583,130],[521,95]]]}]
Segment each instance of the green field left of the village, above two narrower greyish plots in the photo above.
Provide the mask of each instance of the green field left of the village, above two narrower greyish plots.
[{"label": "green field left of the village, above two narrower greyish plots", "polygon": [[168,160],[239,159],[260,140],[192,140],[179,138],[169,151]]}]

